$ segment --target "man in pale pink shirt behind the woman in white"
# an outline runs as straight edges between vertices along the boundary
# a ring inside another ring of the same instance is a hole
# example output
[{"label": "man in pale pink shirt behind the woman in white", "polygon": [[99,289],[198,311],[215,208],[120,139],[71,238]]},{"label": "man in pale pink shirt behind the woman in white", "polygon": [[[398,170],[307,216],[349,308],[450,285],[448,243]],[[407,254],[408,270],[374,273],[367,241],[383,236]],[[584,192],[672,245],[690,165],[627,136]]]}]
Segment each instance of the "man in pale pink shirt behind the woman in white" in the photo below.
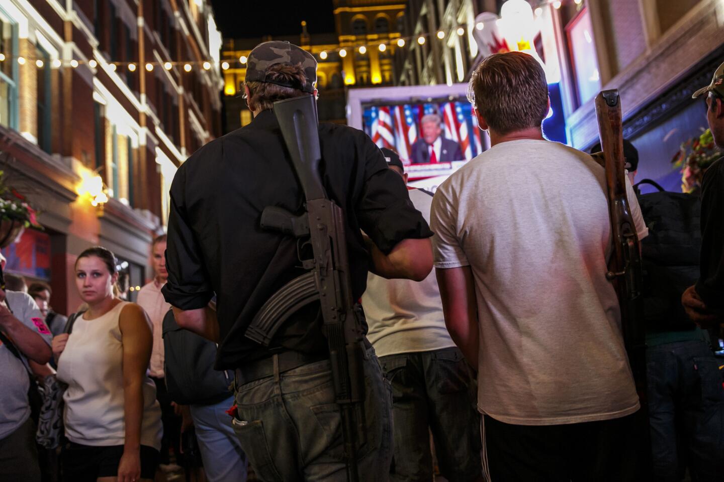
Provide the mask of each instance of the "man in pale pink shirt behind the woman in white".
[{"label": "man in pale pink shirt behind the woman in white", "polygon": [[153,280],[140,288],[136,303],[146,310],[148,318],[153,324],[153,349],[151,350],[151,365],[149,374],[156,384],[156,397],[161,404],[164,422],[164,438],[161,444],[161,470],[171,472],[180,470],[178,464],[172,464],[169,448],[175,455],[180,453],[180,434],[182,419],[177,414],[180,408],[175,408],[166,390],[164,380],[164,317],[171,309],[161,293],[169,277],[166,271],[166,235],[161,234],[153,239],[151,244],[151,266],[153,267]]}]

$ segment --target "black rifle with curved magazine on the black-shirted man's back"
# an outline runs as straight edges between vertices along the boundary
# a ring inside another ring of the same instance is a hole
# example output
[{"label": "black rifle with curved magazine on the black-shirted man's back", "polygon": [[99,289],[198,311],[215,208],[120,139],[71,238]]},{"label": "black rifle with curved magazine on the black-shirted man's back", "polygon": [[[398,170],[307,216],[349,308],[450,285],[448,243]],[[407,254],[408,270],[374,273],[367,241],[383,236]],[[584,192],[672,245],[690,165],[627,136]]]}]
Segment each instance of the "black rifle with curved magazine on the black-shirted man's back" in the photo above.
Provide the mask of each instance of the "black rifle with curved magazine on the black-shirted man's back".
[{"label": "black rifle with curved magazine on the black-shirted man's back", "polygon": [[329,346],[334,397],[342,414],[348,481],[358,481],[356,449],[364,437],[363,314],[352,298],[345,220],[342,209],[329,199],[319,175],[319,132],[316,102],[311,95],[279,100],[274,114],[306,197],[306,212],[295,216],[279,207],[266,207],[261,228],[309,238],[310,270],[274,293],[261,307],[245,335],[269,346],[282,323],[301,306],[321,304],[324,335]]}]

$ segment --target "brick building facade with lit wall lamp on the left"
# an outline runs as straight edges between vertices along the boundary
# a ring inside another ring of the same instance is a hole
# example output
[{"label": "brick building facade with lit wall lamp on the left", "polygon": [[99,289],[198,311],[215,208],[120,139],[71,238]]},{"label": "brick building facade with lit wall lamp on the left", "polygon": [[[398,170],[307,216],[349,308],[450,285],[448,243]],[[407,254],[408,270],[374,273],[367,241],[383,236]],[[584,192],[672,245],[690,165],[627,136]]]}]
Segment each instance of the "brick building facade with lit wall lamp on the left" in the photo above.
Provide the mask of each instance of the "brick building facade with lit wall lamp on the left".
[{"label": "brick building facade with lit wall lamp on the left", "polygon": [[221,130],[209,1],[8,0],[0,34],[0,169],[46,228],[7,250],[8,270],[49,281],[61,313],[88,246],[143,285],[177,166]]}]

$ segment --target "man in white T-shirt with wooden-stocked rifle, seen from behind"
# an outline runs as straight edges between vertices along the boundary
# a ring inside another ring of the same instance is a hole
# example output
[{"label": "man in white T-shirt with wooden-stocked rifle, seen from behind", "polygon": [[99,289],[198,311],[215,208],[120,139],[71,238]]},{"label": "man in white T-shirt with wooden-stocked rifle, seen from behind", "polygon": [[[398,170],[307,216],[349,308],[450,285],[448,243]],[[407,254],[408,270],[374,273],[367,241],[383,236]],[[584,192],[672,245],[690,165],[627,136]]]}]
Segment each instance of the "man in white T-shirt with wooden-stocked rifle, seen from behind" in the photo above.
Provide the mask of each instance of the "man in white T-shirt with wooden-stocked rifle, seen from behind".
[{"label": "man in white T-shirt with wooden-stocked rifle, seen from behind", "polygon": [[[492,147],[431,214],[450,335],[478,367],[484,470],[497,481],[628,481],[639,398],[613,285],[605,172],[550,142],[542,66],[494,54],[468,96]],[[648,231],[631,184],[639,238]]]}]

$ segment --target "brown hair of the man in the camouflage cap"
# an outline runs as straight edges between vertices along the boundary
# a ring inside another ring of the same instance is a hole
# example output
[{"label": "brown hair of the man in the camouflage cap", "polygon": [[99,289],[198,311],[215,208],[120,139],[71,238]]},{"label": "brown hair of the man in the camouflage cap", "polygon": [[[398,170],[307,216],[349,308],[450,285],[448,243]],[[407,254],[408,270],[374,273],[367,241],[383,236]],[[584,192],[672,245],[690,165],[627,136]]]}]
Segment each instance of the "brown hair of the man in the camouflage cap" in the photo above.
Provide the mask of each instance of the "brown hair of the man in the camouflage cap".
[{"label": "brown hair of the man in the camouflage cap", "polygon": [[[302,64],[274,64],[270,66],[269,69],[266,69],[266,77],[270,80],[292,85],[305,85],[307,82]],[[301,95],[311,95],[308,92],[303,92],[303,90],[284,87],[282,85],[272,84],[271,82],[246,82],[245,85],[249,87],[249,98],[247,102],[251,111],[266,111],[271,109],[277,100],[300,97]]]}]

